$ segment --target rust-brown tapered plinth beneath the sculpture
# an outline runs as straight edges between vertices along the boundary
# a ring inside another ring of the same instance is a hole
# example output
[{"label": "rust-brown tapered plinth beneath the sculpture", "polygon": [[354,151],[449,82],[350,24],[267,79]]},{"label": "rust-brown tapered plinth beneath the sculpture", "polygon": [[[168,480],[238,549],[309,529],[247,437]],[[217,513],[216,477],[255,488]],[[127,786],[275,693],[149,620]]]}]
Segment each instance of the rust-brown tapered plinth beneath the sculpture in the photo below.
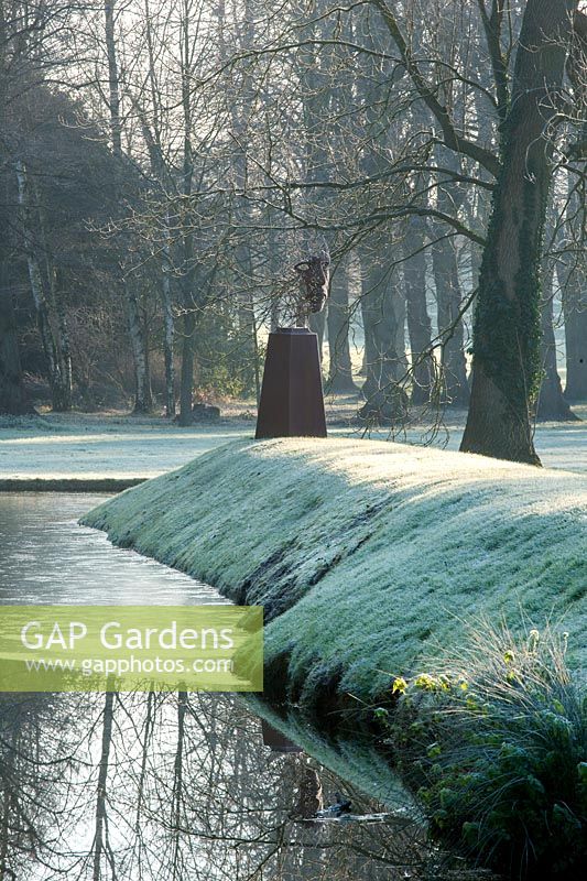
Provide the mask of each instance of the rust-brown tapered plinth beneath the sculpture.
[{"label": "rust-brown tapered plinth beneath the sculpture", "polygon": [[305,327],[269,335],[254,436],[326,437],[318,338]]}]

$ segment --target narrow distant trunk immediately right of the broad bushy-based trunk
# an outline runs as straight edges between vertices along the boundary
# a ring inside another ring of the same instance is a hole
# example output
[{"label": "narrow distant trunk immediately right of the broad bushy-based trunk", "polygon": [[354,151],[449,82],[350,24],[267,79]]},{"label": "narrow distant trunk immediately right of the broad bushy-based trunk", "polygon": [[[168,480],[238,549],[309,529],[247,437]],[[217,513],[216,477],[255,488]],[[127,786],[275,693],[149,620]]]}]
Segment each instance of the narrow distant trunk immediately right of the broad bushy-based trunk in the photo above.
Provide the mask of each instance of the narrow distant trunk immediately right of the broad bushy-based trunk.
[{"label": "narrow distant trunk immediately right of the broad bushy-based trunk", "polygon": [[[407,225],[403,242],[403,282],[405,289],[407,334],[412,361],[412,403],[430,400],[433,380],[431,358],[432,323],[426,303],[426,255],[424,225],[415,218]],[[423,356],[423,352],[428,352]]]}]

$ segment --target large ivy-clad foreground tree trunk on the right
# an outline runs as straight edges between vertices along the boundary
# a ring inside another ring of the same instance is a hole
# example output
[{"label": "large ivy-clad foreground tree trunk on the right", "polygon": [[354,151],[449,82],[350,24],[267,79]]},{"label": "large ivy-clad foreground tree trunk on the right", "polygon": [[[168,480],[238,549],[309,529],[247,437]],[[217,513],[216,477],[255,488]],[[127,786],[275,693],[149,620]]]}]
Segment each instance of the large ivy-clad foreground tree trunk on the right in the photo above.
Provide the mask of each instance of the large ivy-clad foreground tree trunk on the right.
[{"label": "large ivy-clad foreground tree trunk on the right", "polygon": [[531,410],[540,385],[540,275],[552,178],[545,131],[557,113],[570,0],[528,0],[503,122],[503,150],[474,325],[469,414],[461,450],[540,465]]}]

